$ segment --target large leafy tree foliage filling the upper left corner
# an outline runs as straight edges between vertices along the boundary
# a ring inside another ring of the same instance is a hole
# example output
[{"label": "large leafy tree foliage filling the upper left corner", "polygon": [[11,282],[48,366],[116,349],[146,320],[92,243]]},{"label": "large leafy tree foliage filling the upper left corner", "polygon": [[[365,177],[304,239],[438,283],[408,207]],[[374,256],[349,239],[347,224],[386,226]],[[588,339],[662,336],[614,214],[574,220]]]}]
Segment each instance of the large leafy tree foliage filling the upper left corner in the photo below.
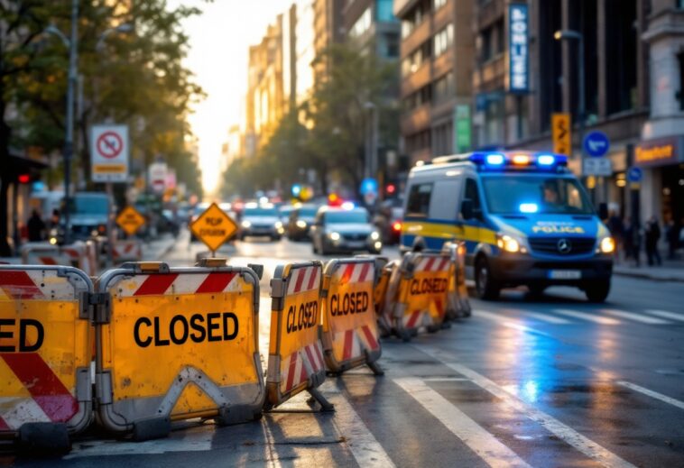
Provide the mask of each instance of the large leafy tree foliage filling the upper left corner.
[{"label": "large leafy tree foliage filling the upper left corner", "polygon": [[[48,154],[64,144],[69,50],[45,30],[53,25],[69,37],[70,6],[66,0],[0,2],[0,165],[11,149],[31,146]],[[181,62],[188,49],[181,22],[199,13],[185,6],[171,10],[165,0],[79,2],[82,100],[74,166],[86,177],[89,127],[113,122],[129,125],[134,168],[144,170],[161,155],[180,181],[200,192],[197,161],[185,142],[189,105],[202,92]],[[111,31],[121,24],[134,31]],[[9,177],[0,175],[0,255],[8,250]]]}]

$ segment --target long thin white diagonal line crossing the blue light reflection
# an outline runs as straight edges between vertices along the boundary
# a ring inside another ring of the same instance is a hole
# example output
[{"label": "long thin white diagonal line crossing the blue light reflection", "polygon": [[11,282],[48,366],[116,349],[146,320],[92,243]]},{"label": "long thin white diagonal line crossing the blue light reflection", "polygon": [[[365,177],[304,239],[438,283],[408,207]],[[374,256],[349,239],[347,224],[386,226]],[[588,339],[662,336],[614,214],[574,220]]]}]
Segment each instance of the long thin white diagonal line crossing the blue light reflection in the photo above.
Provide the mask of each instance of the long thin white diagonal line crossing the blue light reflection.
[{"label": "long thin white diagonal line crossing the blue light reflection", "polygon": [[596,444],[596,442],[586,436],[582,436],[575,429],[566,426],[558,419],[553,418],[540,409],[534,408],[522,399],[518,399],[509,393],[508,390],[505,390],[503,387],[497,385],[494,381],[490,381],[484,375],[480,375],[472,369],[469,369],[466,366],[456,362],[447,362],[442,360],[438,353],[429,347],[421,346],[420,344],[412,344],[412,346],[423,353],[430,355],[433,359],[443,363],[448,368],[465,375],[467,378],[476,383],[476,385],[487,390],[496,398],[501,399],[509,407],[523,413],[532,421],[538,422],[542,427],[546,428],[548,431],[558,436],[569,445],[572,445],[578,449],[579,452],[586,454],[589,458],[595,460],[596,463],[599,463],[605,467],[634,467],[632,463],[626,462],[616,454],[607,450],[605,447]]}]

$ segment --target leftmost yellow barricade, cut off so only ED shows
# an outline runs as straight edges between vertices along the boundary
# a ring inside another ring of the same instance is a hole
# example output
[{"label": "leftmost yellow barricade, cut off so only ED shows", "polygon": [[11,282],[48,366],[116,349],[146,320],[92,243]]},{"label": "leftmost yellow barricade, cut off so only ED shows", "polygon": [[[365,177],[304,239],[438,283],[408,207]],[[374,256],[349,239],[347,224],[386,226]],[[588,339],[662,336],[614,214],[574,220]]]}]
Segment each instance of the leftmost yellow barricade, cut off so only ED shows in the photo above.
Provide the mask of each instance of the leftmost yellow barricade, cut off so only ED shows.
[{"label": "leftmost yellow barricade, cut off so only ED shows", "polygon": [[92,290],[71,267],[0,266],[0,436],[61,451],[88,427]]}]

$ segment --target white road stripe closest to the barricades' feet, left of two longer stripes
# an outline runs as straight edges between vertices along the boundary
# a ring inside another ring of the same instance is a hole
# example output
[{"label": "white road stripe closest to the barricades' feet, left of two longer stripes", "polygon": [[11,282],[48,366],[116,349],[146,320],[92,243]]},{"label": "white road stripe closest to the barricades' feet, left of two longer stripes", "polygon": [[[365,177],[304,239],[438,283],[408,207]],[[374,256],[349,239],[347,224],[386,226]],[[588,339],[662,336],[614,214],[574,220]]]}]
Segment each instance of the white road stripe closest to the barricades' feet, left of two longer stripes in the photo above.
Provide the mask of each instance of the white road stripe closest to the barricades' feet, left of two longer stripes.
[{"label": "white road stripe closest to the barricades' feet, left of two longer stripes", "polygon": [[373,433],[365,426],[354,408],[341,393],[328,393],[326,398],[335,405],[333,424],[341,436],[347,438],[347,446],[354,455],[359,466],[393,467],[390,455],[384,451],[383,445],[375,439]]}]

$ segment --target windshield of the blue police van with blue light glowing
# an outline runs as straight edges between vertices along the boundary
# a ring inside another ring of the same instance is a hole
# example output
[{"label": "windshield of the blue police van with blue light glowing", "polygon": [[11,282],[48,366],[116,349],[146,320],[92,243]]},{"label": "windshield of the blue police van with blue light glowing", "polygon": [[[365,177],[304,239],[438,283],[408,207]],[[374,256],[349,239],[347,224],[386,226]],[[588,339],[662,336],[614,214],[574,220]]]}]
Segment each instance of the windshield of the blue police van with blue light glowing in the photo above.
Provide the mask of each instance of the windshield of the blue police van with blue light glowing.
[{"label": "windshield of the blue police van with blue light glowing", "polygon": [[483,178],[489,213],[593,215],[594,208],[576,179],[534,176]]}]

